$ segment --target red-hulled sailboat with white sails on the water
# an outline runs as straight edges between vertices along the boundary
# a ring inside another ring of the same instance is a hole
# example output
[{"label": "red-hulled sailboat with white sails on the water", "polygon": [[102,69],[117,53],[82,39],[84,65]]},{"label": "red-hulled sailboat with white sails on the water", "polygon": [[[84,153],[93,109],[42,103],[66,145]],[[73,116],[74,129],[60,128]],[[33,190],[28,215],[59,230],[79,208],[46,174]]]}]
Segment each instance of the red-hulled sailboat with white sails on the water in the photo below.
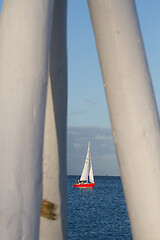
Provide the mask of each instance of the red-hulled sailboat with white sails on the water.
[{"label": "red-hulled sailboat with white sails on the water", "polygon": [[[90,170],[89,170],[89,167],[90,167]],[[89,176],[89,181],[88,181],[88,176]],[[95,185],[95,182],[94,182],[94,176],[93,176],[92,160],[91,160],[91,153],[90,153],[90,141],[89,141],[87,156],[86,156],[81,177],[78,180],[78,182],[75,182],[75,184],[73,184],[73,187],[93,188],[94,185]]]}]

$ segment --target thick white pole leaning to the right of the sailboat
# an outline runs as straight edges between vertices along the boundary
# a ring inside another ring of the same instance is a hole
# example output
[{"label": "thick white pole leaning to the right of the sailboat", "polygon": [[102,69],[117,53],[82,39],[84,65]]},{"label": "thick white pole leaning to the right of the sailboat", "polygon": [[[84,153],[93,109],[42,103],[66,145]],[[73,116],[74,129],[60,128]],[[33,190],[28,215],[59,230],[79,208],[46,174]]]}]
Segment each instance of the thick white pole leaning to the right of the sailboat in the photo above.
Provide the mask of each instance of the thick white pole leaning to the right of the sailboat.
[{"label": "thick white pole leaning to the right of the sailboat", "polygon": [[88,0],[134,239],[160,239],[159,120],[134,1]]}]

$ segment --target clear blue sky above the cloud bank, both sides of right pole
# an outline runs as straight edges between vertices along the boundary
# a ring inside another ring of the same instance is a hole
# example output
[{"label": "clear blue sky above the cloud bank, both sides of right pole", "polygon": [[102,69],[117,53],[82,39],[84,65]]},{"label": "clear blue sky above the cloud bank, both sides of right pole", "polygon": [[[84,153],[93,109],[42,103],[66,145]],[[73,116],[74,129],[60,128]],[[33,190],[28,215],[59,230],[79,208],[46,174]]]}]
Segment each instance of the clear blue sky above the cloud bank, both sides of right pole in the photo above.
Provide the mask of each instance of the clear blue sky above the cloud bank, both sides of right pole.
[{"label": "clear blue sky above the cloud bank, both sides of right pole", "polygon": [[[160,108],[160,1],[136,0],[148,64]],[[68,125],[110,127],[87,1],[68,1]]]}]

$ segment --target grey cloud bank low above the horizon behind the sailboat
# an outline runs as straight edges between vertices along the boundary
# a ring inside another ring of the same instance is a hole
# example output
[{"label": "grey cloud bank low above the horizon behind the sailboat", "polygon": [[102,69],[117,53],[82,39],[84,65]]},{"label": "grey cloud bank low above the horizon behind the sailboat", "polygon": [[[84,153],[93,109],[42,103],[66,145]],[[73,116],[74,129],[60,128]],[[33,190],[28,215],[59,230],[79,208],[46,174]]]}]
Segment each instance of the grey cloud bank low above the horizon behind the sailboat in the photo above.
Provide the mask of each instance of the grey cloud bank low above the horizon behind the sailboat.
[{"label": "grey cloud bank low above the horizon behind the sailboat", "polygon": [[67,167],[69,175],[80,175],[91,141],[91,156],[95,175],[118,175],[119,168],[111,129],[97,127],[68,127]]}]

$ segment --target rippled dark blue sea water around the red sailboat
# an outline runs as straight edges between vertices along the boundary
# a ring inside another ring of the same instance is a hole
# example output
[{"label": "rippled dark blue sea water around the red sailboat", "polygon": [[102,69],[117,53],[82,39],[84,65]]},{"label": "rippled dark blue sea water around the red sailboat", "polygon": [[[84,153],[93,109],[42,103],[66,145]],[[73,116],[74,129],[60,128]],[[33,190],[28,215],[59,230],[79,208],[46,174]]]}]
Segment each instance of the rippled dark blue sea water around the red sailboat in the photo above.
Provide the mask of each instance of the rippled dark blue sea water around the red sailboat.
[{"label": "rippled dark blue sea water around the red sailboat", "polygon": [[93,189],[78,189],[68,176],[69,240],[132,239],[120,177],[95,177]]}]

